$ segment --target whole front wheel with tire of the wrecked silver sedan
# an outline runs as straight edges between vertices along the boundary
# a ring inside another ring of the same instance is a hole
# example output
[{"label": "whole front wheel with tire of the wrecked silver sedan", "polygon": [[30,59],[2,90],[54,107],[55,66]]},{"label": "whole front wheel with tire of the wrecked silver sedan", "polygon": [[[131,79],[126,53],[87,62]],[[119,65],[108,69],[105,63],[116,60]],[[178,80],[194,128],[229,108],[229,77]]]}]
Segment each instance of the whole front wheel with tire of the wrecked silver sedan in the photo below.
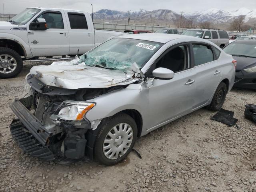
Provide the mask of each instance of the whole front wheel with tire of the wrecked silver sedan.
[{"label": "whole front wheel with tire of the wrecked silver sedan", "polygon": [[121,162],[132,150],[137,138],[137,125],[134,119],[120,113],[108,118],[100,125],[94,145],[94,156],[104,165]]}]

